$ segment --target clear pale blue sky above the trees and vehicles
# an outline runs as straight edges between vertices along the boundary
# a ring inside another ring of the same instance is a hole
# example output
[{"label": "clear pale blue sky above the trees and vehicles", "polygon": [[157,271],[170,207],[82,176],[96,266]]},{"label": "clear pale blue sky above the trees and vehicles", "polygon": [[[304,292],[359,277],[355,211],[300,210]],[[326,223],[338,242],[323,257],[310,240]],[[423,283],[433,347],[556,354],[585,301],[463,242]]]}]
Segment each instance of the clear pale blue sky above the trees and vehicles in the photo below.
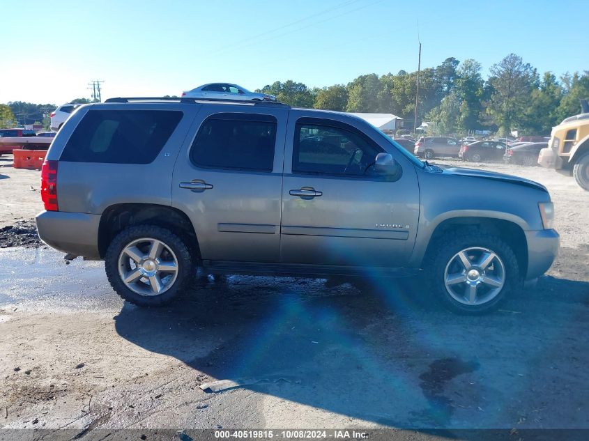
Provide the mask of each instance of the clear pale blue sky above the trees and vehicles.
[{"label": "clear pale blue sky above the trees and vehicles", "polygon": [[0,103],[180,95],[208,82],[309,87],[514,52],[542,74],[589,70],[586,0],[0,2]]}]

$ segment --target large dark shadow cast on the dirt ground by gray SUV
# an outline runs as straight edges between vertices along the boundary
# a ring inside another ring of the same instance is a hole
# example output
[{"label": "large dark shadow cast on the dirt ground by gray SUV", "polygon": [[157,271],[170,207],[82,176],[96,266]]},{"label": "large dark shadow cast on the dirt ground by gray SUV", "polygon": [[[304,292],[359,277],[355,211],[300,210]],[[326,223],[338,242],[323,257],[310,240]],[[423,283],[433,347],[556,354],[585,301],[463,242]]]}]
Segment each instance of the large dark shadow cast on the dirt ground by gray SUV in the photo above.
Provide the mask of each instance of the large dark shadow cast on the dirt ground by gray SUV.
[{"label": "large dark shadow cast on the dirt ground by gray SUV", "polygon": [[[553,393],[571,395],[560,399],[537,390],[554,383],[553,369],[588,362],[575,327],[586,322],[589,283],[543,277],[487,316],[427,298],[420,279],[361,293],[321,279],[211,277],[165,309],[125,303],[115,320],[123,338],[212,380],[249,379],[252,391],[385,426],[510,428],[543,406],[542,427],[567,427],[587,380],[563,373]],[[562,356],[567,345],[576,361]]]}]

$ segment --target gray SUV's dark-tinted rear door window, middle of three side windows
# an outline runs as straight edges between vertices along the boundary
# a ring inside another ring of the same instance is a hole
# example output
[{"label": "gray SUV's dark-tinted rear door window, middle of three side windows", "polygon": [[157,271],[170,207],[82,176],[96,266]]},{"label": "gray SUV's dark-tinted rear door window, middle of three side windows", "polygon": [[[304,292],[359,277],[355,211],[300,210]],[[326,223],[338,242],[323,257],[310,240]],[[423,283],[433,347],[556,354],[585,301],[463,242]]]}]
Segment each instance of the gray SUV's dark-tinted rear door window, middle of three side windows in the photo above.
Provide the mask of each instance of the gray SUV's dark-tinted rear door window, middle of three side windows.
[{"label": "gray SUV's dark-tinted rear door window, middle of three side windows", "polygon": [[212,116],[201,125],[190,160],[198,167],[272,171],[276,125],[270,115]]}]

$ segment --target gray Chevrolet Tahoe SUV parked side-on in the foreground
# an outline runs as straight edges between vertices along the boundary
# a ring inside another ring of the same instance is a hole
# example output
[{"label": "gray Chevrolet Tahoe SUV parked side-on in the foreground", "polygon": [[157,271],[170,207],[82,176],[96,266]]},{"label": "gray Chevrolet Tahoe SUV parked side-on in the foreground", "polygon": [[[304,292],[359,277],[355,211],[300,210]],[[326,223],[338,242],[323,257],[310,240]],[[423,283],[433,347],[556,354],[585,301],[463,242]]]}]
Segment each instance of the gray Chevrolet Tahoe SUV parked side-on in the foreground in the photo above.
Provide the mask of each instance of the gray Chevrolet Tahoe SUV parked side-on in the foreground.
[{"label": "gray Chevrolet Tahoe SUV parked side-on in the foreground", "polygon": [[441,169],[360,118],[275,102],[84,105],[49,148],[42,196],[40,238],[104,260],[141,306],[171,301],[203,268],[419,274],[424,293],[477,314],[544,273],[559,242],[540,184]]}]

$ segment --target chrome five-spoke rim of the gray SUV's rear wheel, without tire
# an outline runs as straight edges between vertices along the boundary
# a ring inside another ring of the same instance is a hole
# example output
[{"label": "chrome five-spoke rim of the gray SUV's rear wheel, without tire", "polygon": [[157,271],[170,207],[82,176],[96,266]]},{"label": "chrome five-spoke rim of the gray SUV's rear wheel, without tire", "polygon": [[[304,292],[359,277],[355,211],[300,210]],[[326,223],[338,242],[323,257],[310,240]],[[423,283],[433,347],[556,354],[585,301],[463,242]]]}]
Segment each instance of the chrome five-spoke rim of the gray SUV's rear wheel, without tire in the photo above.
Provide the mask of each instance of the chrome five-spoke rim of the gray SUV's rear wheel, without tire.
[{"label": "chrome five-spoke rim of the gray SUV's rear wheel, without tire", "polygon": [[139,295],[160,295],[178,277],[178,258],[164,242],[141,238],[130,242],[118,256],[118,274]]}]

